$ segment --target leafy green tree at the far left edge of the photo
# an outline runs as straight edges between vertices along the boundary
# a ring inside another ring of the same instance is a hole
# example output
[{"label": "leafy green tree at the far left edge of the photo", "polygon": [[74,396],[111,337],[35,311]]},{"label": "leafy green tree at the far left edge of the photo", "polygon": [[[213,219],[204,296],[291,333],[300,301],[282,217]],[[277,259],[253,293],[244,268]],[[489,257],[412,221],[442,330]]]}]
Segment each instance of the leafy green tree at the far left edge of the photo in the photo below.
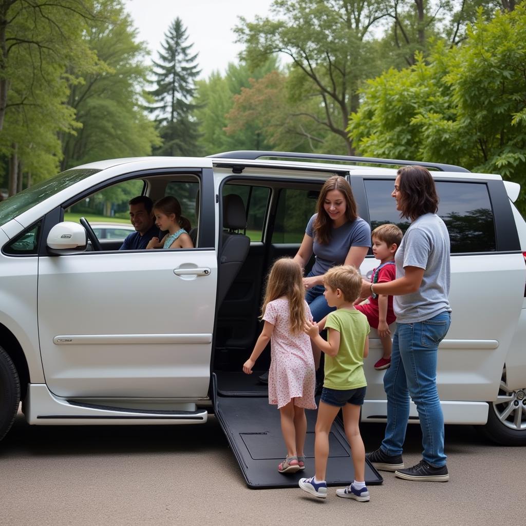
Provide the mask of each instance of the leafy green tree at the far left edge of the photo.
[{"label": "leafy green tree at the far left edge of the photo", "polygon": [[11,165],[10,195],[21,187],[21,167],[36,180],[58,169],[57,133],[76,126],[64,104],[66,67],[97,67],[82,38],[92,8],[90,0],[0,2],[0,154]]}]

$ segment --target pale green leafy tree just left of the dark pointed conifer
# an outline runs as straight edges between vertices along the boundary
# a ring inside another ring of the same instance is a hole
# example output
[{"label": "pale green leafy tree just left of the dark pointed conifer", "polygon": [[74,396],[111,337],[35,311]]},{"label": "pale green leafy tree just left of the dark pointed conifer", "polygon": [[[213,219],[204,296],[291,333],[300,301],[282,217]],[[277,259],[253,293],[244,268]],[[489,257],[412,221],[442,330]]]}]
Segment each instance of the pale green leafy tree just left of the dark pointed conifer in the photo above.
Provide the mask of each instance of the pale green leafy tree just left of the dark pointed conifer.
[{"label": "pale green leafy tree just left of the dark pointed conifer", "polygon": [[150,155],[160,141],[154,123],[145,115],[142,90],[148,69],[146,49],[120,0],[102,0],[97,21],[85,34],[96,52],[98,70],[78,78],[70,68],[68,106],[82,128],[62,134],[62,169],[98,159]]}]

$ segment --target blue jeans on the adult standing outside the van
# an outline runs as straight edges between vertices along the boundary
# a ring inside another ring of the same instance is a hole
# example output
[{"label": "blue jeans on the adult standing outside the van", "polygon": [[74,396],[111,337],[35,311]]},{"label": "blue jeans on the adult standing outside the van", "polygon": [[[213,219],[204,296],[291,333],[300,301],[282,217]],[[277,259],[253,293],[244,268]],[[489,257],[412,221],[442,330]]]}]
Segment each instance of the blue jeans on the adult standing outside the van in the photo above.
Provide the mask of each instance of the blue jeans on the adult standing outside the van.
[{"label": "blue jeans on the adult standing outside the van", "polygon": [[446,336],[450,323],[450,312],[441,312],[417,323],[397,323],[391,367],[383,377],[387,425],[381,449],[388,455],[402,454],[411,397],[422,428],[423,459],[437,468],[446,464],[444,417],[437,390],[437,355],[438,344]]}]

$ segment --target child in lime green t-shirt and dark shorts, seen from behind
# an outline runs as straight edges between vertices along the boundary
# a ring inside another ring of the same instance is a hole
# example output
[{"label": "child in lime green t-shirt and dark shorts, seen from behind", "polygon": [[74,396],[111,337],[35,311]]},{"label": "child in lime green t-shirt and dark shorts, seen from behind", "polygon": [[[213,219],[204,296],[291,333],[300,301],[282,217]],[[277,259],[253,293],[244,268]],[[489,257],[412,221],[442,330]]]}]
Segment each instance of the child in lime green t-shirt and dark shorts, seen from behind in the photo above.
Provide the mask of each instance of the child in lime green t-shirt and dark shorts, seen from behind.
[{"label": "child in lime green t-shirt and dark shorts, seen from behind", "polygon": [[[338,497],[367,502],[370,499],[365,485],[365,448],[360,436],[360,407],[365,398],[367,381],[363,374],[363,358],[369,354],[369,322],[355,309],[353,302],[360,296],[362,277],[352,265],[331,268],[323,276],[325,299],[336,307],[319,323],[307,321],[305,332],[312,343],[325,353],[325,381],[316,420],[314,444],[314,477],[300,479],[299,487],[327,498],[325,473],[329,457],[329,432],[338,411],[343,412],[343,427],[352,450],[355,480],[347,488],[338,489]],[[328,330],[325,341],[319,331]]]}]

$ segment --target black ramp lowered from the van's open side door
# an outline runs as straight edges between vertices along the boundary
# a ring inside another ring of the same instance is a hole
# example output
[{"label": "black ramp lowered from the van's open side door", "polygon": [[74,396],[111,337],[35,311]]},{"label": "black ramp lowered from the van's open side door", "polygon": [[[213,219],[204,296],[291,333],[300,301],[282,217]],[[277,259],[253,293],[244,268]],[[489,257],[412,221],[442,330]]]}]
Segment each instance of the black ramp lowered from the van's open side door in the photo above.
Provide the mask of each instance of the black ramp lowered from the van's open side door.
[{"label": "black ramp lowered from the van's open side door", "polygon": [[[306,469],[291,474],[278,472],[278,464],[286,450],[281,436],[279,412],[267,398],[223,397],[217,394],[217,379],[213,375],[216,418],[226,434],[247,485],[252,489],[297,488],[302,477],[314,474],[314,428],[317,411],[306,411]],[[327,484],[348,485],[354,479],[351,451],[345,432],[338,420],[329,436]],[[378,471],[366,460],[366,484],[383,482]]]}]

